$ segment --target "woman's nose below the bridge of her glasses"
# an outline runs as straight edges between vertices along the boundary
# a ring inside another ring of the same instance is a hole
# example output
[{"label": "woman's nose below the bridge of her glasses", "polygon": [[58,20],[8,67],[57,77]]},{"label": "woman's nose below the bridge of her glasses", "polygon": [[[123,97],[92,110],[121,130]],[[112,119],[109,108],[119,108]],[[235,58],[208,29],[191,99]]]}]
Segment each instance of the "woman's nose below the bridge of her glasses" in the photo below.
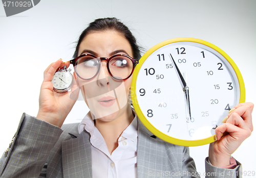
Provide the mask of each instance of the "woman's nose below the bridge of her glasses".
[{"label": "woman's nose below the bridge of her glasses", "polygon": [[109,80],[108,80],[109,77],[110,77],[110,74],[108,71],[107,62],[103,59],[101,60],[100,69],[97,76],[98,86],[101,86],[101,87],[109,86]]}]

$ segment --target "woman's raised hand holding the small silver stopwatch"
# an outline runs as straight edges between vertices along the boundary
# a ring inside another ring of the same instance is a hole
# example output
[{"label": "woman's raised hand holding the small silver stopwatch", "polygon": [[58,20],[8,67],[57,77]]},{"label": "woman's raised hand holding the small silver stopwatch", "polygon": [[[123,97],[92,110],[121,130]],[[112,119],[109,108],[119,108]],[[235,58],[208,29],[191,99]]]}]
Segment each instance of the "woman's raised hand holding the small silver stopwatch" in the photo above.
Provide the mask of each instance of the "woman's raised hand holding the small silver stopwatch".
[{"label": "woman's raised hand holding the small silver stopwatch", "polygon": [[[72,99],[70,92],[57,93],[53,90],[52,79],[54,73],[63,66],[69,67],[70,63],[63,63],[61,59],[52,63],[44,72],[44,81],[42,82],[39,95],[39,111],[37,118],[49,122],[53,125],[61,127],[67,115],[74,106],[78,97],[79,89],[74,80],[74,85],[71,88]],[[74,74],[74,77],[76,75]]]}]

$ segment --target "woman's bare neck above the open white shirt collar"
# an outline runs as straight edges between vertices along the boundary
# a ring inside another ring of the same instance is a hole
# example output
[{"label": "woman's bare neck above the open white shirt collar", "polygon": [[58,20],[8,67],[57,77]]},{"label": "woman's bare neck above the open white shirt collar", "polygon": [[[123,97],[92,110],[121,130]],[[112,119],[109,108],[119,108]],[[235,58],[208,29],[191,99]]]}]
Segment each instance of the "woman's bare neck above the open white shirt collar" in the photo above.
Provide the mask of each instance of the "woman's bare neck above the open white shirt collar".
[{"label": "woman's bare neck above the open white shirt collar", "polygon": [[128,105],[121,109],[116,118],[111,121],[96,119],[95,126],[103,136],[110,154],[117,148],[118,138],[133,119],[134,115],[131,106]]}]

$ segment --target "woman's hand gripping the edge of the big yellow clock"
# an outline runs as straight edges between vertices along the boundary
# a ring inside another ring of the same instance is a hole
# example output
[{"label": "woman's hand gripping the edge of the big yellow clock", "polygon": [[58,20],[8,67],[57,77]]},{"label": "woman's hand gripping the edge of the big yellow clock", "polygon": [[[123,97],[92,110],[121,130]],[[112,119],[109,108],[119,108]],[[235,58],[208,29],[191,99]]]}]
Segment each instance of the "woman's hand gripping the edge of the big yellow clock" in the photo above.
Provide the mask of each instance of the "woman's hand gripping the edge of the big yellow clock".
[{"label": "woman's hand gripping the edge of the big yellow clock", "polygon": [[231,154],[251,135],[252,109],[252,103],[241,103],[228,114],[226,123],[218,126],[215,131],[217,141],[209,146],[209,160],[212,165],[228,166]]}]

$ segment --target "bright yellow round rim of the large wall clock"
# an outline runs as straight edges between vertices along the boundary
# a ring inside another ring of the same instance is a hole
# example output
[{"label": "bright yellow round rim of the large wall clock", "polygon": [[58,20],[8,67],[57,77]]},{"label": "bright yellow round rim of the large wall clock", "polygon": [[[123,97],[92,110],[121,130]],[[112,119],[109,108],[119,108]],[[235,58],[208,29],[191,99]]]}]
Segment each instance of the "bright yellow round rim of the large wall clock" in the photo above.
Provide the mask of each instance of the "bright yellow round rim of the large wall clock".
[{"label": "bright yellow round rim of the large wall clock", "polygon": [[132,85],[131,85],[131,98],[132,98],[132,103],[135,109],[135,112],[137,114],[137,116],[139,117],[140,121],[143,123],[143,125],[152,133],[154,134],[156,137],[159,137],[160,139],[169,142],[169,143],[173,143],[173,144],[177,144],[177,145],[182,145],[182,146],[199,146],[199,145],[204,145],[204,144],[208,144],[211,142],[216,141],[216,135],[212,135],[208,138],[205,139],[200,139],[200,140],[181,140],[181,139],[177,139],[174,137],[170,137],[164,133],[162,133],[161,131],[159,131],[158,129],[155,128],[155,126],[153,126],[144,116],[143,112],[140,109],[140,106],[138,104],[137,101],[137,96],[136,96],[136,81],[137,81],[137,77],[138,77],[138,73],[140,71],[140,68],[142,66],[142,64],[145,62],[145,60],[152,54],[155,52],[155,50],[161,48],[162,46],[165,46],[167,44],[170,43],[176,43],[176,42],[195,42],[195,43],[200,43],[203,44],[205,46],[208,46],[214,50],[216,50],[219,54],[221,54],[228,62],[229,64],[232,66],[234,72],[237,75],[238,78],[238,82],[239,82],[239,87],[240,87],[240,100],[239,103],[243,103],[245,101],[245,86],[244,86],[244,81],[241,75],[240,70],[238,69],[237,65],[233,62],[233,60],[219,47],[215,46],[214,44],[211,44],[207,41],[204,40],[200,40],[200,39],[196,39],[196,38],[174,38],[174,39],[169,39],[166,41],[163,41],[161,43],[158,43],[157,45],[153,46],[152,48],[150,48],[139,60],[139,64],[136,65],[134,73],[133,73],[133,80],[132,80]]}]

